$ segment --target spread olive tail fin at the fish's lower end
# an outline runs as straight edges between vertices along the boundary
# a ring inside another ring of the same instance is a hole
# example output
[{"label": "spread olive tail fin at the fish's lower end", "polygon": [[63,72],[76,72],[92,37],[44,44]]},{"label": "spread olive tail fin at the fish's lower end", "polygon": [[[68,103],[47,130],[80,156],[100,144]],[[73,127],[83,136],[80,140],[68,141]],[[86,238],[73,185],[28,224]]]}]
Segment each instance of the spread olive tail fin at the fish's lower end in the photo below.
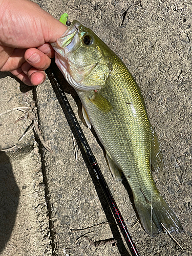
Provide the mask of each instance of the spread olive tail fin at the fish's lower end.
[{"label": "spread olive tail fin at the fish's lower end", "polygon": [[184,231],[174,211],[168,206],[161,195],[159,195],[158,201],[153,202],[152,200],[152,207],[150,202],[141,202],[139,200],[135,200],[135,206],[141,223],[150,236],[155,237],[158,233],[163,231],[161,223],[169,232],[175,231],[178,233]]}]

